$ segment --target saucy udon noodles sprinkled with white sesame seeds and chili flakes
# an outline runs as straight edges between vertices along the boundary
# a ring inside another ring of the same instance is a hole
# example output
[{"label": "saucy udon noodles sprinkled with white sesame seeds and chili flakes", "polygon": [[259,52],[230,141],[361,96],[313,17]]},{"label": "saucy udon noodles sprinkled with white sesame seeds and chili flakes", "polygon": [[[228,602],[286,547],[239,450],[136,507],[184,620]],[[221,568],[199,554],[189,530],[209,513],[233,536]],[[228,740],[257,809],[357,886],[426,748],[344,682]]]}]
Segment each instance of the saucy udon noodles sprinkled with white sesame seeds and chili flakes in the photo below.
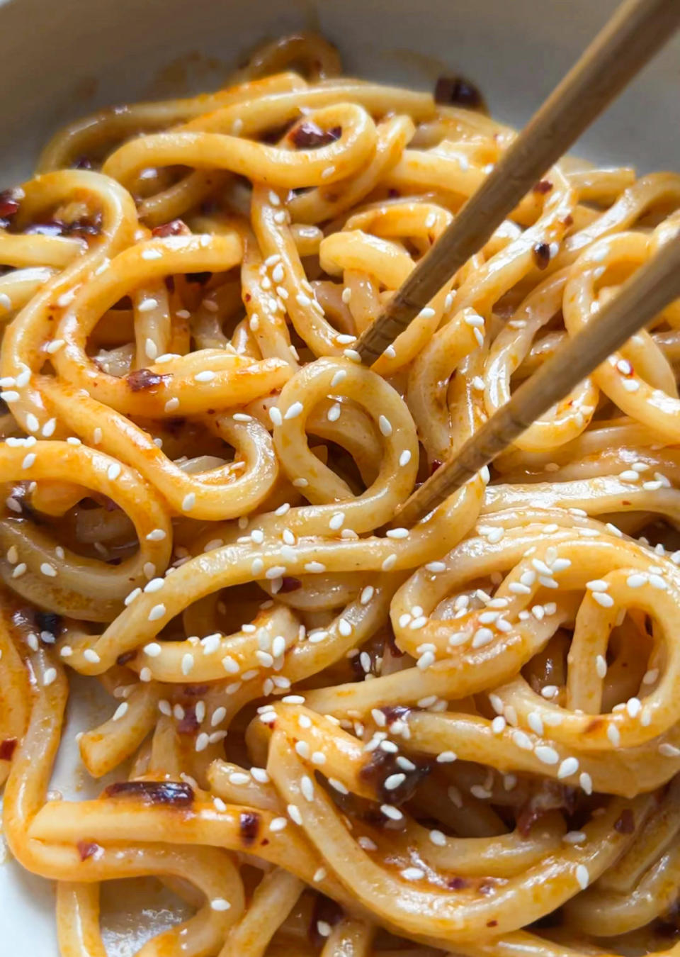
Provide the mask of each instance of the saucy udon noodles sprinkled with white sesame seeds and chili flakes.
[{"label": "saucy udon noodles sprinkled with white sesame seeds and chili flakes", "polygon": [[[394,527],[680,176],[565,159],[362,367],[515,135],[438,94],[287,37],[2,194],[4,830],[62,957],[137,876],[190,914],[141,957],[680,954],[680,305]],[[48,795],[73,672],[94,800]]]}]

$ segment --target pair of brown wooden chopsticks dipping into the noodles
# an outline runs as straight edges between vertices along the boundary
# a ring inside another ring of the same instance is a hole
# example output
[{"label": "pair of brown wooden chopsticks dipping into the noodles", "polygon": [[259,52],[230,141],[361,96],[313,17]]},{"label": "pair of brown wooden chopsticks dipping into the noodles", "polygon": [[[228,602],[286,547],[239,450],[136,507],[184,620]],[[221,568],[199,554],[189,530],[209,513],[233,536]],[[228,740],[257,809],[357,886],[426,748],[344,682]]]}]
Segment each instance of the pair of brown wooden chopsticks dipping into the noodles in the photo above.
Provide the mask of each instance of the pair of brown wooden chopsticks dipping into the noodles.
[{"label": "pair of brown wooden chopsticks dipping into the noodles", "polygon": [[[365,329],[355,345],[362,363],[372,365],[382,355],[678,26],[680,0],[627,0],[616,11],[384,312]],[[422,519],[678,296],[680,234],[405,502],[395,522],[408,527]]]}]

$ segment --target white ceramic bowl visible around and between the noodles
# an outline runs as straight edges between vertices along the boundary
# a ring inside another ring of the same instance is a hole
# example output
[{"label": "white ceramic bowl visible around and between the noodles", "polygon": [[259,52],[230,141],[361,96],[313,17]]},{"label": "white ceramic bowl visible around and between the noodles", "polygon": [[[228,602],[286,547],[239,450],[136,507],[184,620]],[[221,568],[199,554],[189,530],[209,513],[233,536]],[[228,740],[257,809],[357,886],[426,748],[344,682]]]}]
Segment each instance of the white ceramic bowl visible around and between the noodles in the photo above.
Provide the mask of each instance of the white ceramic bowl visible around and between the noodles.
[{"label": "white ceramic bowl visible around and between the noodles", "polygon": [[[102,105],[215,88],[244,50],[299,29],[325,33],[340,48],[346,72],[357,76],[431,89],[437,76],[460,72],[479,85],[494,116],[521,125],[615,6],[615,0],[0,0],[0,188],[31,175],[40,146],[61,123]],[[676,38],[576,152],[642,170],[677,168],[679,80]],[[82,798],[105,783],[93,788],[85,781],[74,745],[79,723],[99,723],[110,710],[107,704],[97,715],[91,695],[83,691],[59,757],[55,787],[67,796]],[[120,905],[106,928],[109,957],[132,957],[154,928],[172,920],[156,894],[139,926],[136,893],[130,881],[106,889]],[[0,953],[56,957],[49,884],[8,861],[0,865],[0,901]]]}]

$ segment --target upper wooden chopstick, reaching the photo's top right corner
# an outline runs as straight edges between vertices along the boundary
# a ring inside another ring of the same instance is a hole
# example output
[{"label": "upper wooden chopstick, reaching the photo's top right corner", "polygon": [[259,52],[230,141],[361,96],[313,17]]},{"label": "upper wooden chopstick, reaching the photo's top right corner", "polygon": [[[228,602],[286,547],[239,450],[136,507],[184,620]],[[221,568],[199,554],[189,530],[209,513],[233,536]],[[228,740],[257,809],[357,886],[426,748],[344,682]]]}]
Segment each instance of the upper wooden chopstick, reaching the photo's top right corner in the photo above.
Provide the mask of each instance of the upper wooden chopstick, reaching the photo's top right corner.
[{"label": "upper wooden chopstick, reaching the photo's top right corner", "polygon": [[680,0],[627,0],[354,346],[372,365],[680,25]]}]

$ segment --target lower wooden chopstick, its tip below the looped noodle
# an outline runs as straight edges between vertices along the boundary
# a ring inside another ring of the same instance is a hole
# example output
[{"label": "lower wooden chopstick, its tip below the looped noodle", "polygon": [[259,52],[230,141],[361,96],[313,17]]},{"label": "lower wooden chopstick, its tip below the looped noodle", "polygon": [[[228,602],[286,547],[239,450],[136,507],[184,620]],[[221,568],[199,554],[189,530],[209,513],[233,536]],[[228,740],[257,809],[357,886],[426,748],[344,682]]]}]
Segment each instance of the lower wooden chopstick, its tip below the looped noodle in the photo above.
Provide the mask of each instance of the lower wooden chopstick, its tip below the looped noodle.
[{"label": "lower wooden chopstick, its tip below the looped noodle", "polygon": [[442,465],[397,511],[395,525],[409,527],[460,488],[559,402],[612,352],[680,297],[680,232],[631,278],[573,339],[516,390],[457,456]]}]

